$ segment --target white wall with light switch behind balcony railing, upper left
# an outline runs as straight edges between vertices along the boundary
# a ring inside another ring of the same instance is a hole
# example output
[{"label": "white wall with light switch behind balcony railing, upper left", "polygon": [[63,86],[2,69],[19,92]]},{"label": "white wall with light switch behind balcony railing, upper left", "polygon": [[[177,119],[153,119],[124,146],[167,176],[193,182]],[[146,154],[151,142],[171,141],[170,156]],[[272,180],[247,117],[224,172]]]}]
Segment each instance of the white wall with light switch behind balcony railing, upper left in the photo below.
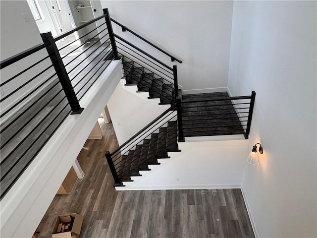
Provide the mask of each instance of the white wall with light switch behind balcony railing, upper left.
[{"label": "white wall with light switch behind balcony railing, upper left", "polygon": [[[38,44],[43,43],[40,36],[40,31],[35,23],[35,20],[32,16],[29,5],[26,0],[1,0],[1,14],[0,14],[0,51],[1,51],[1,60],[5,60],[9,57],[12,57],[20,52],[23,52],[31,47],[34,47]],[[24,22],[22,15],[26,13],[29,21]],[[43,59],[48,56],[47,50],[43,49],[33,55],[26,57],[18,62],[11,64],[4,69],[1,69],[1,83],[21,72],[28,66],[31,66],[35,62]],[[39,63],[37,66],[18,76],[9,83],[1,87],[2,92],[4,93],[3,97],[11,93],[17,87],[23,85],[29,79],[40,73],[43,69],[47,68],[52,64],[50,59],[44,60]],[[53,73],[53,67],[47,70],[45,73],[41,74],[39,77],[28,83],[26,86],[21,88],[16,93],[12,94],[10,97],[1,102],[1,112],[3,113],[8,108],[11,107],[16,101],[21,99],[25,94],[32,91],[37,85],[39,85],[43,80]],[[51,80],[52,81],[52,80]],[[30,98],[30,97],[29,97]],[[20,103],[15,107],[15,110],[18,110],[23,104]],[[12,114],[15,110],[12,110]],[[1,120],[5,120],[9,116],[7,114],[5,117],[2,117]]]}]

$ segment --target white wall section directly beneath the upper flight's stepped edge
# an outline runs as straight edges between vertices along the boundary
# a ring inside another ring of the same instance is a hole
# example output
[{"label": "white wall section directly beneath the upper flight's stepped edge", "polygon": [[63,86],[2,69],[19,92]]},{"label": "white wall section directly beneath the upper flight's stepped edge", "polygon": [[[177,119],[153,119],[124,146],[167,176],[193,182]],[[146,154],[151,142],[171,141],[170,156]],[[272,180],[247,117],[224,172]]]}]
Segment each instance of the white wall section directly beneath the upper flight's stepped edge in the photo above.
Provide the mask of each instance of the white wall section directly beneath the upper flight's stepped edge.
[{"label": "white wall section directly beneath the upper flight's stepped edge", "polygon": [[170,107],[159,105],[159,99],[147,99],[148,92],[137,93],[137,86],[124,86],[124,83],[122,79],[107,104],[119,145]]}]

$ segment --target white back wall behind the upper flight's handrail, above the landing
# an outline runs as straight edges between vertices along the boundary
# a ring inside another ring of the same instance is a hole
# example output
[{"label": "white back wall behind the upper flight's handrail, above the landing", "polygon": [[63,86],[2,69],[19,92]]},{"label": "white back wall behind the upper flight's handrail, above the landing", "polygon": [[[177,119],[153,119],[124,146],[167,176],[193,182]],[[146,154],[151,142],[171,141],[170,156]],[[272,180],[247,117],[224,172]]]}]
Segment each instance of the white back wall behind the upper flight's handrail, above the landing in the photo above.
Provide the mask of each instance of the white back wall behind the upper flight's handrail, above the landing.
[{"label": "white back wall behind the upper flight's handrail, above the landing", "polygon": [[177,64],[185,93],[226,91],[233,1],[102,0],[102,6],[112,18],[183,60],[180,64],[154,54],[168,65]]}]

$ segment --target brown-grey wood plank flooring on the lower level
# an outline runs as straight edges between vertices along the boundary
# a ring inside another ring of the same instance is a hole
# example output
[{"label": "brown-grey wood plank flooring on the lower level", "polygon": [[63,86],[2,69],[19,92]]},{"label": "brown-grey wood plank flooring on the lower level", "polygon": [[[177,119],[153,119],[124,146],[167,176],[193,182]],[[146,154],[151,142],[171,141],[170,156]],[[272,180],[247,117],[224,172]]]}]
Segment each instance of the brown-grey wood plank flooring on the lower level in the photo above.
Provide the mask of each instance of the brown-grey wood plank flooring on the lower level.
[{"label": "brown-grey wood plank flooring on the lower level", "polygon": [[84,216],[80,238],[253,238],[240,189],[115,191],[104,152],[118,144],[111,123],[87,140],[78,161],[85,172],[70,195],[56,195],[39,224],[50,238],[57,215]]}]

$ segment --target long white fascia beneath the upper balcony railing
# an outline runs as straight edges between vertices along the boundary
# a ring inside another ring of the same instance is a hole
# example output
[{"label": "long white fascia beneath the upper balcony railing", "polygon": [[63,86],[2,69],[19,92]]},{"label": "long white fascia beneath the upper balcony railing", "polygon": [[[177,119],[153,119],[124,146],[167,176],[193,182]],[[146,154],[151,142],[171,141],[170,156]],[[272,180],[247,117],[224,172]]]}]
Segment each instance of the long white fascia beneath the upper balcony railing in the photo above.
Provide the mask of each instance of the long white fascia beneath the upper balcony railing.
[{"label": "long white fascia beneath the upper balcony railing", "polygon": [[85,110],[65,119],[0,201],[2,238],[32,237],[120,78],[120,60],[112,61],[80,100]]}]

